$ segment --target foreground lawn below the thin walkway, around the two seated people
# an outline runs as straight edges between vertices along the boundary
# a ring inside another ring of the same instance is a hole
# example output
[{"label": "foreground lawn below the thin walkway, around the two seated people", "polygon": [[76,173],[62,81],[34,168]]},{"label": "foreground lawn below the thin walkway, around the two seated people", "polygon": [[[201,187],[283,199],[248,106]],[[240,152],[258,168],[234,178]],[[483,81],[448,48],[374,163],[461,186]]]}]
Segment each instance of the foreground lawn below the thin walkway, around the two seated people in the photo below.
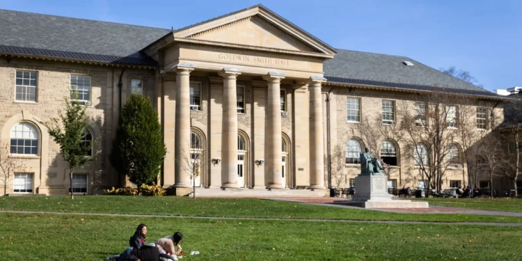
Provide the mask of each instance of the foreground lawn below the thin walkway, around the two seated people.
[{"label": "foreground lawn below the thin walkway, around the two seated people", "polygon": [[182,260],[521,260],[522,228],[0,213],[0,260],[102,260],[139,223],[181,231]]}]

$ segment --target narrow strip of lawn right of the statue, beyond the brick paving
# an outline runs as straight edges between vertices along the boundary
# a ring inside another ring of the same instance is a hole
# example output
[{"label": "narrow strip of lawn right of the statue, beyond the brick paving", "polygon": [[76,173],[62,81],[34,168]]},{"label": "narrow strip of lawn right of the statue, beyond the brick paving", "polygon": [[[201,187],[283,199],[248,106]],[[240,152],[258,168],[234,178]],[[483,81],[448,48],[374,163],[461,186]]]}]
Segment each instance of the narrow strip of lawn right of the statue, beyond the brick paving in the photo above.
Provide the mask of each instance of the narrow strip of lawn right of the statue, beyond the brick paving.
[{"label": "narrow strip of lawn right of the statue, beyond the brick paving", "polygon": [[429,205],[522,212],[522,198],[422,198]]}]

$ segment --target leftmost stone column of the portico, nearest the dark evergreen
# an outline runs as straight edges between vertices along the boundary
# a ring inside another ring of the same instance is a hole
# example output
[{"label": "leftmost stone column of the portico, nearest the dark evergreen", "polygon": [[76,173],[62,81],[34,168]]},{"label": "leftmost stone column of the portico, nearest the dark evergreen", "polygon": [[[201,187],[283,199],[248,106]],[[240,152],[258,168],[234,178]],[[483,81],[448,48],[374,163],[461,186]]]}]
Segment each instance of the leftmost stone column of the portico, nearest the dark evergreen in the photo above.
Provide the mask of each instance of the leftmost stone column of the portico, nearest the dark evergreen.
[{"label": "leftmost stone column of the portico, nearest the dark evergreen", "polygon": [[[176,72],[176,123],[175,123],[175,184],[174,187],[190,187],[190,171],[187,157],[190,153],[190,72],[194,65],[178,63]],[[165,115],[165,117],[168,117]],[[165,175],[166,173],[164,173]]]}]

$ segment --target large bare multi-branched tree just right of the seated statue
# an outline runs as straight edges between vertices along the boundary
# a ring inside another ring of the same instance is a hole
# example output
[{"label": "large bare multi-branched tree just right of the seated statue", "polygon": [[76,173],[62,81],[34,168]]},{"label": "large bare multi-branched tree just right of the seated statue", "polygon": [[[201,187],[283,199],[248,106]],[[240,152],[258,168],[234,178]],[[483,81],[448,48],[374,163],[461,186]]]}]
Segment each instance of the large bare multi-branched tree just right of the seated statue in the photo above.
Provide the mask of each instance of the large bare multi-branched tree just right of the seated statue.
[{"label": "large bare multi-branched tree just right of the seated statue", "polygon": [[457,98],[443,90],[416,97],[416,109],[405,104],[398,112],[401,129],[411,143],[422,179],[427,178],[428,188],[441,190],[441,182],[448,166],[451,144],[455,140],[459,119]]}]

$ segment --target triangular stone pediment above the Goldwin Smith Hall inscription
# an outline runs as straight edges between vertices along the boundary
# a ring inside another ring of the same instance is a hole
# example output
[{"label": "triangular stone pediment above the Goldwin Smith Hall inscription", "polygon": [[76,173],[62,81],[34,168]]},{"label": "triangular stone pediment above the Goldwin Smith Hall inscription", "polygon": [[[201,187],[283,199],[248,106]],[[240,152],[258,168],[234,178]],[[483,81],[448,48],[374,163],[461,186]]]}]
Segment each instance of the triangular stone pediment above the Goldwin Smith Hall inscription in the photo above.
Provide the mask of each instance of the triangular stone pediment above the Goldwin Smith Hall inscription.
[{"label": "triangular stone pediment above the Goldwin Smith Hall inscription", "polygon": [[187,26],[175,31],[173,36],[175,39],[319,56],[333,57],[336,53],[326,43],[260,5]]}]

